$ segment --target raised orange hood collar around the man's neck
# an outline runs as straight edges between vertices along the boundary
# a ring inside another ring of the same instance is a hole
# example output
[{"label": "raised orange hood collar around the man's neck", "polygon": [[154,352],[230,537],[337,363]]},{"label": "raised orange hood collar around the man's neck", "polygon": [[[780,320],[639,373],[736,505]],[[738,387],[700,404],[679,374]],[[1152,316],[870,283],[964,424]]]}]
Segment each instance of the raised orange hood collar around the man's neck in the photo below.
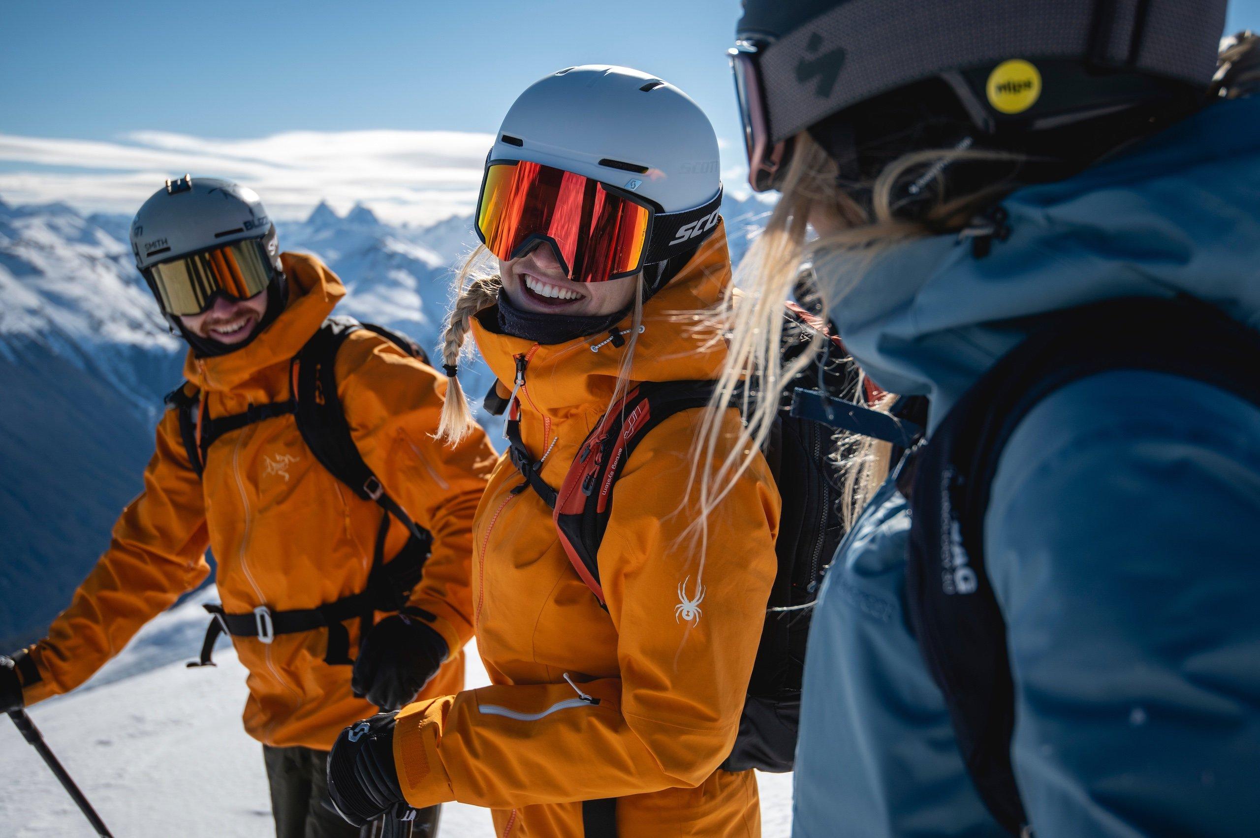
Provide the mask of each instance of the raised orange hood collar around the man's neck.
[{"label": "raised orange hood collar around the man's neck", "polygon": [[248,345],[226,355],[198,358],[189,350],[184,377],[199,389],[237,389],[260,370],[287,364],[345,296],[341,280],[316,257],[281,253],[280,263],[289,280],[289,304],[278,318]]}]

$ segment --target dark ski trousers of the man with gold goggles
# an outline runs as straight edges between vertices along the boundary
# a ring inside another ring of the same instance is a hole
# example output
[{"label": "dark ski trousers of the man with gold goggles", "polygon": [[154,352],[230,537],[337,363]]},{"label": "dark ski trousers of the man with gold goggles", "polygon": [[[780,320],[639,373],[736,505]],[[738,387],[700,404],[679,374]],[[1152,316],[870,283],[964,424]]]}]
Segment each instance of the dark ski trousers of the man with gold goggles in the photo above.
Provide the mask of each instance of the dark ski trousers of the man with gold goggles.
[{"label": "dark ski trousers of the man with gold goggles", "polygon": [[[328,796],[328,751],[310,747],[262,746],[271,784],[271,813],[276,838],[359,838],[357,827],[333,810]],[[394,832],[401,838],[431,838],[437,834],[440,806],[422,809],[416,820]],[[382,834],[383,822],[363,828],[363,838]]]}]

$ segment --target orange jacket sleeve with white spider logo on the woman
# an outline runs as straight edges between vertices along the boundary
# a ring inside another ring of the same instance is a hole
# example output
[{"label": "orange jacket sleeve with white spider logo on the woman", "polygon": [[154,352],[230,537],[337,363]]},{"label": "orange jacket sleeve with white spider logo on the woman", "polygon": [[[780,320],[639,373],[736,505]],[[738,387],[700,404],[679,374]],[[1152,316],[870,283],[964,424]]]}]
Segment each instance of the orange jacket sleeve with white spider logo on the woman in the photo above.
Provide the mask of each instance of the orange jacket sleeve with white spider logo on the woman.
[{"label": "orange jacket sleeve with white spider logo on the woman", "polygon": [[[679,505],[698,417],[653,430],[616,485],[598,562],[620,678],[493,686],[404,708],[394,756],[412,805],[509,808],[696,786],[727,756],[777,566],[780,499],[759,459],[713,512],[701,572],[698,553],[678,543],[697,514]],[[694,614],[675,611],[680,591]]]}]

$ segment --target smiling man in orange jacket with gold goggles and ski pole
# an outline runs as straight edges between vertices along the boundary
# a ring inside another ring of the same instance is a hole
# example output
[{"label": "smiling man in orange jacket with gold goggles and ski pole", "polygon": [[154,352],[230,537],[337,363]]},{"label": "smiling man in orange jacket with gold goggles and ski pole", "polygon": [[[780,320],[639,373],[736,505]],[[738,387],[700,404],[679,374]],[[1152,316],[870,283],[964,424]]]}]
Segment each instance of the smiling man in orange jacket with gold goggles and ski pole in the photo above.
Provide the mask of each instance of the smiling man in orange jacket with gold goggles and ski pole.
[{"label": "smiling man in orange jacket with gold goggles and ski pole", "polygon": [[[345,287],[315,257],[278,253],[252,190],[168,181],[131,239],[190,344],[188,382],[158,426],[144,491],[71,606],[45,639],[0,658],[0,709],[83,683],[207,577],[210,547],[215,620],[249,670],[244,727],[263,745],[277,835],[358,834],[326,806],[328,750],[373,704],[462,687],[472,515],[494,451],[480,428],[454,449],[433,440],[440,373],[353,321],[325,324]],[[334,335],[321,364],[310,347]],[[358,457],[341,455],[368,478],[358,485],[323,465],[328,444],[302,423],[338,402]],[[427,814],[415,834],[436,833]]]}]

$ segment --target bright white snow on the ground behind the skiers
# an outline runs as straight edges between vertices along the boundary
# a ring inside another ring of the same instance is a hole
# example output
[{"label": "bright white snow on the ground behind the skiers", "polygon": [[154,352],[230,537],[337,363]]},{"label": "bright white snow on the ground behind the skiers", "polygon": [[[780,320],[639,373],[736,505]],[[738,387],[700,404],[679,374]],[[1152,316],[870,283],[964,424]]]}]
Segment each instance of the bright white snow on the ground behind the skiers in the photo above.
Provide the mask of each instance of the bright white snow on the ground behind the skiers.
[{"label": "bright white snow on the ground behind the skiers", "polygon": [[[200,601],[147,625],[78,692],[30,711],[53,752],[117,838],[273,834],[261,746],[241,727],[246,670],[226,643],[217,668],[186,669],[205,626]],[[467,684],[488,683],[475,646]],[[759,775],[765,838],[786,838],[791,775]],[[0,720],[0,835],[94,833],[16,728]],[[491,838],[486,810],[449,803],[445,838]]]}]

